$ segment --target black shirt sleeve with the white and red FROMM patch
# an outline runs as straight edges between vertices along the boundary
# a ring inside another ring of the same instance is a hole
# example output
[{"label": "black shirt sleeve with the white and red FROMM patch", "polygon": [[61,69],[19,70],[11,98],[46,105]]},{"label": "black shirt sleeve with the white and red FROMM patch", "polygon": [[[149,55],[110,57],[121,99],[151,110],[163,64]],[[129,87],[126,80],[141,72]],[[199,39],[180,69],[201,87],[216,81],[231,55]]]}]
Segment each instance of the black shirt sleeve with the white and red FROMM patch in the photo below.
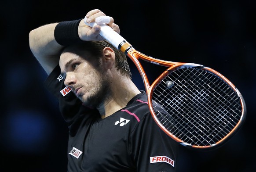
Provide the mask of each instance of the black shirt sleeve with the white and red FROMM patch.
[{"label": "black shirt sleeve with the white and red FROMM patch", "polygon": [[175,172],[179,143],[160,129],[150,113],[132,135],[132,154],[138,172]]}]

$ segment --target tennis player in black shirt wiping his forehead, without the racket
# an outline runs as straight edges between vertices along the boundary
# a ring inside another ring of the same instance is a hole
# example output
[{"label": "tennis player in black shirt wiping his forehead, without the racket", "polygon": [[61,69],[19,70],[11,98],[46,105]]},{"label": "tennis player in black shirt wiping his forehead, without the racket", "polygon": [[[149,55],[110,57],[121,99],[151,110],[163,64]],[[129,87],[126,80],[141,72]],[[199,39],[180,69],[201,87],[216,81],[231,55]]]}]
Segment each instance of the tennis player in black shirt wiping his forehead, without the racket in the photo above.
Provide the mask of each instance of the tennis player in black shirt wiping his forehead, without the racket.
[{"label": "tennis player in black shirt wiping his forehead, without the racket", "polygon": [[[87,22],[99,16],[105,14],[91,10]],[[104,22],[120,33],[113,18]],[[125,54],[99,31],[80,19],[29,33],[30,49],[48,74],[45,86],[69,128],[67,171],[175,172],[179,144],[154,122]]]}]

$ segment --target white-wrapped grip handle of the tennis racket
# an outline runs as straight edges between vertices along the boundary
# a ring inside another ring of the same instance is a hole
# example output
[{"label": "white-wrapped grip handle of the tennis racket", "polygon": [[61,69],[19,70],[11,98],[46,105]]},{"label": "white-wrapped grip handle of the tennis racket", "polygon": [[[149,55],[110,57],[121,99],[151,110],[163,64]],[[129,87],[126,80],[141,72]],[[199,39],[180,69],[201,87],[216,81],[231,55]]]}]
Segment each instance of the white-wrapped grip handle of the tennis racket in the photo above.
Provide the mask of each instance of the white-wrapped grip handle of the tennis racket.
[{"label": "white-wrapped grip handle of the tennis racket", "polygon": [[86,19],[87,18],[85,17],[84,23],[90,27],[93,27],[95,25],[100,25],[101,29],[99,34],[117,49],[120,49],[119,45],[122,42],[127,42],[121,35],[115,32],[109,25],[106,25],[105,23],[97,24],[96,22],[87,23]]}]

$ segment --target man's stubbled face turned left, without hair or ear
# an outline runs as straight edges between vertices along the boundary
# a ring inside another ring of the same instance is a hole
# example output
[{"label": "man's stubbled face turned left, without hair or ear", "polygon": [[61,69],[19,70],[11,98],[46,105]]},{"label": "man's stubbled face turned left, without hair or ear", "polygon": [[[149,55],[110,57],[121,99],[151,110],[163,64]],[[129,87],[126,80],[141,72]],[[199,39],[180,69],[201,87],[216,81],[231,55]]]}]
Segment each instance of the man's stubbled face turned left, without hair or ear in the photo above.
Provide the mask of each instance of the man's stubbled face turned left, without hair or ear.
[{"label": "man's stubbled face turned left, without hair or ear", "polygon": [[64,84],[72,89],[84,105],[95,108],[109,93],[109,82],[99,61],[88,53],[83,56],[64,52],[60,56],[59,65],[65,78]]}]

